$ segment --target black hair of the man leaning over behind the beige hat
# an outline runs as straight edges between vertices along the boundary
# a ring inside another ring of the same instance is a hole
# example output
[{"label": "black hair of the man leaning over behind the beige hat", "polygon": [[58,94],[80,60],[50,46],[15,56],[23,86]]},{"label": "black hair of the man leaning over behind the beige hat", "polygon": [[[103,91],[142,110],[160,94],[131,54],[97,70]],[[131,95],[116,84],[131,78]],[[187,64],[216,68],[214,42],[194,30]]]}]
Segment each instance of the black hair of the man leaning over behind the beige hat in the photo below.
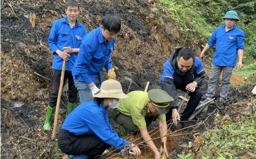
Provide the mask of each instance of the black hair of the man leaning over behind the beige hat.
[{"label": "black hair of the man leaning over behind the beige hat", "polygon": [[119,33],[121,30],[121,20],[117,16],[108,14],[102,18],[102,26],[109,32]]}]

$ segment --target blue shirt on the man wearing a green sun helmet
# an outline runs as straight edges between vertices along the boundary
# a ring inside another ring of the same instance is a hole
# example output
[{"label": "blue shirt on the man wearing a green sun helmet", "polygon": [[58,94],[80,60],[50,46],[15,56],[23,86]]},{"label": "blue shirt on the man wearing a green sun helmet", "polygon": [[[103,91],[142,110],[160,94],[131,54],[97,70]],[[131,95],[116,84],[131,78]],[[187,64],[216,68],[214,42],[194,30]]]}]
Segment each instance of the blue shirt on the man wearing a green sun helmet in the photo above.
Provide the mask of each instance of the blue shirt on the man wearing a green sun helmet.
[{"label": "blue shirt on the man wearing a green sun helmet", "polygon": [[238,50],[244,50],[244,32],[237,27],[225,31],[225,25],[218,27],[208,40],[208,45],[216,44],[212,63],[218,66],[233,67],[236,65]]}]

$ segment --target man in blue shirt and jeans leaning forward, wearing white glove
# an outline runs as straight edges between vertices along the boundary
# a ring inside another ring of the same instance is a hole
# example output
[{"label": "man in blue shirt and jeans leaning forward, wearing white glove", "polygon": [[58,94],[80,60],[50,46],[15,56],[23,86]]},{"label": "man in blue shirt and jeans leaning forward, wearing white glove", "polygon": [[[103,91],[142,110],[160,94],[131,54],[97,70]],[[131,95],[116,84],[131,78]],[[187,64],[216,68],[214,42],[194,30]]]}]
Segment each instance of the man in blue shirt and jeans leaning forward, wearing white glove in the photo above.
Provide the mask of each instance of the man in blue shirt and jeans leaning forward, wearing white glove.
[{"label": "man in blue shirt and jeans leaning forward, wearing white glove", "polygon": [[82,41],[79,56],[72,69],[74,84],[79,90],[81,103],[92,99],[102,83],[103,67],[108,75],[112,71],[111,54],[114,49],[115,37],[121,29],[121,21],[117,16],[107,15],[102,24],[88,33]]}]

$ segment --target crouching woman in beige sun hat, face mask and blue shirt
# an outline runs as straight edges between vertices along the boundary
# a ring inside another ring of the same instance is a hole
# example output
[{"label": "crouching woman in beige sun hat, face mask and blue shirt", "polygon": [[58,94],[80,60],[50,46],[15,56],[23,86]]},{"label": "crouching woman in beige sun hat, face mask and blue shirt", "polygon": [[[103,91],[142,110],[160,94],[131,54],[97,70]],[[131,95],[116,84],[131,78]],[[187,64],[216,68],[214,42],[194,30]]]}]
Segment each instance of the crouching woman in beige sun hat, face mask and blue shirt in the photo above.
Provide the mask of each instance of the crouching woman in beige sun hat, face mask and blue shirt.
[{"label": "crouching woman in beige sun hat, face mask and blue shirt", "polygon": [[113,146],[130,149],[140,156],[140,149],[120,138],[109,124],[107,109],[116,108],[119,99],[128,97],[122,91],[121,84],[113,79],[106,80],[94,97],[94,100],[76,107],[64,121],[58,138],[61,151],[68,155],[95,158]]}]

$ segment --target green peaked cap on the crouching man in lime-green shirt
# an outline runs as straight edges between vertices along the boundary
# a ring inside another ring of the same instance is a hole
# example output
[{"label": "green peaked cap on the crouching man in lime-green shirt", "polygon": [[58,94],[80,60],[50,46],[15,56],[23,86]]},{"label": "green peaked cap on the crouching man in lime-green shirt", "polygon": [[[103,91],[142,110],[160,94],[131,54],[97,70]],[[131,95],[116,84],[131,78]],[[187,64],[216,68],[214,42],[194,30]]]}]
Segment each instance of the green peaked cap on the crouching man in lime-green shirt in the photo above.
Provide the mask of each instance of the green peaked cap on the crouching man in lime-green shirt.
[{"label": "green peaked cap on the crouching man in lime-green shirt", "polygon": [[148,91],[148,97],[156,107],[158,113],[168,113],[173,98],[165,90],[152,89]]}]

